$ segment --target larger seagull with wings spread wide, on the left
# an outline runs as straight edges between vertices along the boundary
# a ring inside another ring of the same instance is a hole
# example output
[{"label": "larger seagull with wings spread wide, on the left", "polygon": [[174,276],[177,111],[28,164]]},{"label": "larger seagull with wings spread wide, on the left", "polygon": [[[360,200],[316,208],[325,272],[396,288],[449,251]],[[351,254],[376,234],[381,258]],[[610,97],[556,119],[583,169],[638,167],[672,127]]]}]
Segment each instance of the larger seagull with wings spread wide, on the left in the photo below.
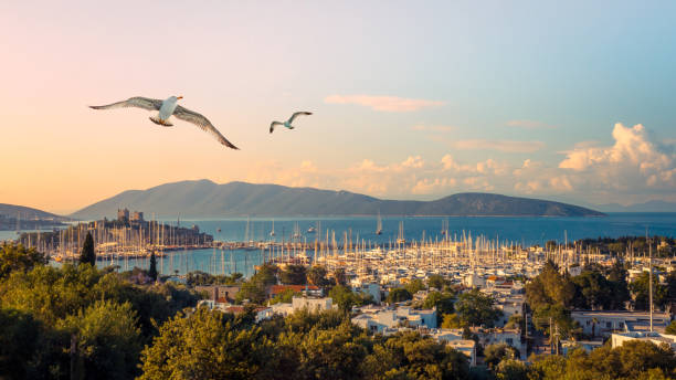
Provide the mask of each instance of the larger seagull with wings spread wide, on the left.
[{"label": "larger seagull with wings spread wide, on the left", "polygon": [[[150,122],[161,125],[163,127],[172,127],[173,124],[169,123],[169,117],[175,116],[179,120],[192,123],[200,127],[203,131],[211,134],[219,142],[232,149],[240,149],[228,141],[223,135],[209,122],[204,116],[190,110],[188,108],[179,106],[177,103],[182,99],[182,96],[170,96],[165,101],[151,99],[149,97],[135,96],[126,101],[107,104],[105,106],[89,106],[94,109],[112,109],[112,108],[126,108],[136,107],[148,110],[157,110],[157,116],[150,116]],[[292,118],[293,119],[293,118]]]}]

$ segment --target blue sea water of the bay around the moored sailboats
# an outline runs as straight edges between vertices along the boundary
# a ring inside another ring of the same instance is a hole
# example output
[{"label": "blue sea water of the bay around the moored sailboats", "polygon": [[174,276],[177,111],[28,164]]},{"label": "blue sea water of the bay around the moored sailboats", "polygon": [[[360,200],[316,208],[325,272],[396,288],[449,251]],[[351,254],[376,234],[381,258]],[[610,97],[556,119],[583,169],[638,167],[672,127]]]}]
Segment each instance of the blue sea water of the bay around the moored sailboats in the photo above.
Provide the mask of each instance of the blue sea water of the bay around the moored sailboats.
[{"label": "blue sea water of the bay around the moored sailboats", "polygon": [[[177,225],[177,220],[163,220],[167,224]],[[275,235],[271,236],[273,230]],[[398,239],[400,225],[403,225],[408,241],[442,239],[442,230],[448,231],[451,238],[460,239],[463,234],[483,235],[490,240],[511,242],[530,246],[543,245],[549,240],[564,242],[584,238],[619,238],[626,235],[676,236],[676,212],[662,213],[609,213],[595,218],[563,217],[383,217],[382,234],[376,234],[376,217],[318,217],[318,218],[224,218],[180,220],[181,226],[198,225],[200,231],[214,236],[216,241],[289,241],[296,233],[298,241],[314,242],[315,239],[329,239],[332,233],[337,241],[342,241],[345,233],[368,244],[388,246]],[[315,232],[308,232],[314,228]],[[15,231],[0,231],[0,241],[17,238]],[[313,252],[307,252],[311,255]],[[251,276],[254,266],[263,261],[260,250],[190,250],[176,251],[158,260],[158,270],[162,274],[184,274],[190,271],[203,271],[212,274],[233,272]],[[98,262],[99,266],[110,262]],[[127,260],[113,263],[120,270],[134,266],[147,268],[148,260]]]}]

